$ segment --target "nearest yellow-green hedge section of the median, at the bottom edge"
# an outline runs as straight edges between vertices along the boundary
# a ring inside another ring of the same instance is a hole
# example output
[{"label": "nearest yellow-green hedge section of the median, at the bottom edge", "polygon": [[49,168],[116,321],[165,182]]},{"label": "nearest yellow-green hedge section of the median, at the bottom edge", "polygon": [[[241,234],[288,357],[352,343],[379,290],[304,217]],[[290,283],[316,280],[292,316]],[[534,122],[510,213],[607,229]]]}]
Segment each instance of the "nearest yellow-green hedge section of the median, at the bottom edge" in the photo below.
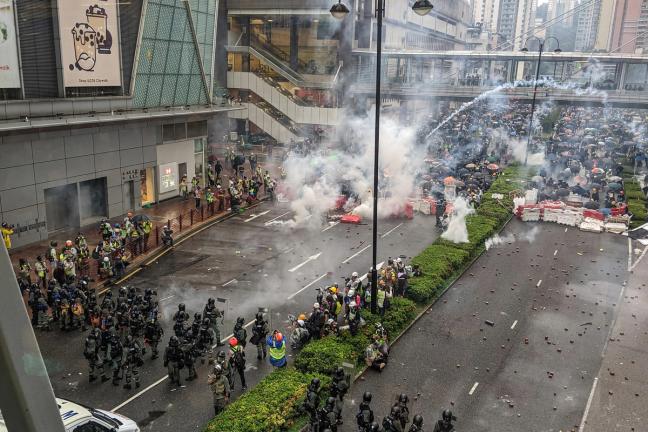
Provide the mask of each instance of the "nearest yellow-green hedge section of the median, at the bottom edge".
[{"label": "nearest yellow-green hedge section of the median, at the bottom edge", "polygon": [[268,432],[289,428],[299,416],[308,383],[318,377],[324,386],[330,378],[304,374],[295,368],[278,369],[230,404],[206,427],[206,432]]}]

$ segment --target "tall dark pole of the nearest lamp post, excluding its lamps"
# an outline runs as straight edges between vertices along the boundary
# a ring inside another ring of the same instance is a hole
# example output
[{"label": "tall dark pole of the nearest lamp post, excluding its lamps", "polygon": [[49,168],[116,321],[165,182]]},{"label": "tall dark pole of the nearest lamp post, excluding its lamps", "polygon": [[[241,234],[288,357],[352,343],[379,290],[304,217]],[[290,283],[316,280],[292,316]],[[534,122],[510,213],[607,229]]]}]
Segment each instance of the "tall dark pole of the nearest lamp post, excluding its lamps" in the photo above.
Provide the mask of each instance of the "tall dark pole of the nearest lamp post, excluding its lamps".
[{"label": "tall dark pole of the nearest lamp post, excluding its lamps", "polygon": [[374,190],[373,190],[373,236],[371,244],[371,313],[377,312],[376,297],[378,297],[378,152],[380,150],[380,74],[382,63],[382,18],[385,12],[385,0],[377,2],[377,28],[376,35],[376,131],[374,143]]}]

